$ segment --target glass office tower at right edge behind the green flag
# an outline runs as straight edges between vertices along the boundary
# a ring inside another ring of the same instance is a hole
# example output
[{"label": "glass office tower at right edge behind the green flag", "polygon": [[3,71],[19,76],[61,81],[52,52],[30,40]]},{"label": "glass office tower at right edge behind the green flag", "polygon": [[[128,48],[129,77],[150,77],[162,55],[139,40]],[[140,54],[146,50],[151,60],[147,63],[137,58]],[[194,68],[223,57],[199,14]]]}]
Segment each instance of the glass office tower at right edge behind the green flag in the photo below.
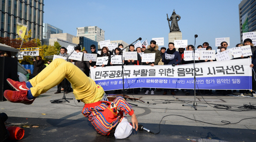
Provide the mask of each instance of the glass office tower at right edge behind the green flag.
[{"label": "glass office tower at right edge behind the green flag", "polygon": [[240,26],[240,40],[241,43],[243,28],[242,17],[248,15],[248,32],[256,31],[256,0],[242,0],[239,7],[239,26]]}]

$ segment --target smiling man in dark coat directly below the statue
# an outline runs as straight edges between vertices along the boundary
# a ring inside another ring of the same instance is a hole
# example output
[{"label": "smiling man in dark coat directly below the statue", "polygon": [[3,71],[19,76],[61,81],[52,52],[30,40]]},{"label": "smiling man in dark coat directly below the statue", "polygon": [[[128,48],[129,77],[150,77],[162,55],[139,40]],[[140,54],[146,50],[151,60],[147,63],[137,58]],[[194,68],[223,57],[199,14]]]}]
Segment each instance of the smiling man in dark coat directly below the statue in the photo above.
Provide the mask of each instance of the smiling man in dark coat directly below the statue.
[{"label": "smiling man in dark coat directly below the statue", "polygon": [[[179,52],[176,51],[176,48],[174,47],[174,43],[169,42],[168,47],[169,48],[165,51],[165,54],[162,58],[162,62],[165,62],[166,65],[172,65],[174,67],[175,65],[178,65],[181,62],[181,56],[180,56]],[[174,57],[170,57],[167,59],[166,58],[167,54],[174,55]],[[168,89],[166,89],[166,88],[164,89],[163,95],[167,94],[167,90]],[[174,89],[171,89],[171,93],[172,93],[172,95],[175,95]]]}]

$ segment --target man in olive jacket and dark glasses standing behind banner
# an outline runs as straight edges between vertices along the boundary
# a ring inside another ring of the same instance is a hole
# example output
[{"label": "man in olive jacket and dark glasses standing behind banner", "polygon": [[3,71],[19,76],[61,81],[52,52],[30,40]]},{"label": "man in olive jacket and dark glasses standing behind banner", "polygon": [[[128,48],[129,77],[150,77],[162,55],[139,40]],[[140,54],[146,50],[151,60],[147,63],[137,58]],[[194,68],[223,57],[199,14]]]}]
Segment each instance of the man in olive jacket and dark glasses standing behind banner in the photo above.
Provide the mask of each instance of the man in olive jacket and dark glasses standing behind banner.
[{"label": "man in olive jacket and dark glasses standing behind banner", "polygon": [[[158,65],[158,62],[161,59],[160,51],[158,50],[158,48],[159,47],[158,45],[156,45],[156,41],[151,40],[150,45],[147,46],[147,49],[144,51],[144,54],[155,53],[154,62],[145,62],[144,65],[150,65],[150,66]],[[151,95],[154,95],[154,89],[155,88],[151,88]],[[144,91],[146,91],[145,95],[148,95],[150,88],[145,88]]]}]

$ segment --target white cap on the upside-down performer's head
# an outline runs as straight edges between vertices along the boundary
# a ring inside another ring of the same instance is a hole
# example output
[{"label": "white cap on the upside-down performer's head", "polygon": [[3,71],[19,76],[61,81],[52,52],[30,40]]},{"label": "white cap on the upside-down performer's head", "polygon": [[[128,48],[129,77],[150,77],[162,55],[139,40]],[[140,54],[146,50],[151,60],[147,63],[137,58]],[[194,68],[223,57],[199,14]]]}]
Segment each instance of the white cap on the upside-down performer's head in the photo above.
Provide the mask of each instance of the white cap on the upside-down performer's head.
[{"label": "white cap on the upside-down performer's head", "polygon": [[132,124],[130,124],[127,120],[127,117],[122,117],[120,123],[117,125],[115,131],[115,137],[117,139],[127,138],[132,134]]}]

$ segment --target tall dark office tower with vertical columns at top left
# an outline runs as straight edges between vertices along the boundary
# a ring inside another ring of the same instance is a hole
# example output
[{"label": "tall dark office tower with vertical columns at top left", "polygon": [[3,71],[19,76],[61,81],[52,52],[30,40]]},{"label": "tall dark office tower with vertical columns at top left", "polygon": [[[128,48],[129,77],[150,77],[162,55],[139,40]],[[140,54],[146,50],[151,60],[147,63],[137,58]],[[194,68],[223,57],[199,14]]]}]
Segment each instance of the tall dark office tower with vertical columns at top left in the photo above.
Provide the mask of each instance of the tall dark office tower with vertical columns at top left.
[{"label": "tall dark office tower with vertical columns at top left", "polygon": [[[44,0],[1,0],[1,37],[17,38],[16,23],[31,29],[31,38],[42,40]],[[26,32],[26,33],[27,33]]]}]

